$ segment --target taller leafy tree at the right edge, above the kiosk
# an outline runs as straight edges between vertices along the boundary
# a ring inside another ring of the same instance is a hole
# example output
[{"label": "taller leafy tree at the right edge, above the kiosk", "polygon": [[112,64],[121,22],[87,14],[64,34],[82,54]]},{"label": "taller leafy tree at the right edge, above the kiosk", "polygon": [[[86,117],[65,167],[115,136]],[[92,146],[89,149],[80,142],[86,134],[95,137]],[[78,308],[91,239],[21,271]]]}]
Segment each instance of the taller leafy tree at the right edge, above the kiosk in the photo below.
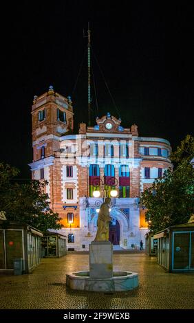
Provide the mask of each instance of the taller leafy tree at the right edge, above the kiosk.
[{"label": "taller leafy tree at the right edge, above the kiosk", "polygon": [[186,223],[194,213],[194,138],[187,135],[171,153],[174,170],[166,170],[151,188],[142,192],[141,204],[147,208],[146,220],[153,232],[170,225]]}]

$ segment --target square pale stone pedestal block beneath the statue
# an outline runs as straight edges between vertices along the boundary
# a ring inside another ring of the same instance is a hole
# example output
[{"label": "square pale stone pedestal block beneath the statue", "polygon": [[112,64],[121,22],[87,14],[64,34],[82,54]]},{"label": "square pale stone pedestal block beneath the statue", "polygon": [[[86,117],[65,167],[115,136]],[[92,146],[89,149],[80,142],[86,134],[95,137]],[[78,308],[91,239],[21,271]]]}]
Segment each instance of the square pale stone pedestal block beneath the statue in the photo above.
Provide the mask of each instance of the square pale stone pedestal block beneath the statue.
[{"label": "square pale stone pedestal block beneath the statue", "polygon": [[89,245],[89,277],[113,276],[113,245],[109,241],[93,241]]}]

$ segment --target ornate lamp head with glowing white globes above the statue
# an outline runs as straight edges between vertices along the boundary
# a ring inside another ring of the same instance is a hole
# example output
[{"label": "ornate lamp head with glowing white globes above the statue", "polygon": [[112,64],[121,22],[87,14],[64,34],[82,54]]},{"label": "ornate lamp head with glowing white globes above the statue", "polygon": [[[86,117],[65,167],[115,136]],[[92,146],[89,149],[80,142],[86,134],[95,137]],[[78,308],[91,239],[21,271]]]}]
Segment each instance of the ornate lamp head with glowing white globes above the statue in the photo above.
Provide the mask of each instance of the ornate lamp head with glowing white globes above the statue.
[{"label": "ornate lamp head with glowing white globes above the statue", "polygon": [[[105,183],[105,177],[104,177],[104,181],[103,179],[96,179],[96,189],[93,191],[93,197],[100,197],[100,188],[99,188],[99,183],[101,183],[101,186],[103,187],[103,201],[105,199],[105,197],[107,196],[107,193],[109,192],[111,197],[117,197],[118,195],[118,191],[116,190],[115,186],[118,184],[118,180],[116,179],[116,177],[110,177],[109,179],[106,180]],[[107,190],[105,188],[105,186],[111,186],[111,190]],[[95,183],[94,183],[95,186]]]}]

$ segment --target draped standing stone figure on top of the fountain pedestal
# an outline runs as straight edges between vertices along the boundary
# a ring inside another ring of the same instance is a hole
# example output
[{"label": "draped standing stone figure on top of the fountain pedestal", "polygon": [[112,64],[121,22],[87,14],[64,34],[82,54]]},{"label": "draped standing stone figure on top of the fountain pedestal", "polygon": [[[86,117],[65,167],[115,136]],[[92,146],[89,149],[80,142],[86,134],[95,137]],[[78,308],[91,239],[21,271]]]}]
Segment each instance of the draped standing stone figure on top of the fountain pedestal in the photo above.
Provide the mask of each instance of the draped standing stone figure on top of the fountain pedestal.
[{"label": "draped standing stone figure on top of the fountain pedestal", "polygon": [[109,241],[109,221],[111,221],[111,216],[109,215],[110,203],[111,199],[106,197],[105,202],[100,206],[97,221],[98,230],[94,241]]}]

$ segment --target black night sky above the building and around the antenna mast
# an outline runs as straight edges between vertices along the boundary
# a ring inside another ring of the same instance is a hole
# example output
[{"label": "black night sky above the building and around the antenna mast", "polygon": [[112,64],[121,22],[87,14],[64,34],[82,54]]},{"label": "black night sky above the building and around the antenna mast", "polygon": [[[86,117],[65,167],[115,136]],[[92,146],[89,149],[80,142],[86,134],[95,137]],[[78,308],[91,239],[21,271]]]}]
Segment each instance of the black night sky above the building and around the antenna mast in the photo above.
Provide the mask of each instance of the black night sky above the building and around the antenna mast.
[{"label": "black night sky above the building and around the antenna mast", "polygon": [[72,96],[76,129],[87,121],[88,21],[98,98],[97,111],[92,85],[92,123],[107,111],[118,118],[119,111],[123,126],[135,122],[139,135],[163,137],[173,148],[193,134],[193,8],[161,4],[7,1],[1,10],[1,160],[30,178],[32,100],[50,85]]}]

